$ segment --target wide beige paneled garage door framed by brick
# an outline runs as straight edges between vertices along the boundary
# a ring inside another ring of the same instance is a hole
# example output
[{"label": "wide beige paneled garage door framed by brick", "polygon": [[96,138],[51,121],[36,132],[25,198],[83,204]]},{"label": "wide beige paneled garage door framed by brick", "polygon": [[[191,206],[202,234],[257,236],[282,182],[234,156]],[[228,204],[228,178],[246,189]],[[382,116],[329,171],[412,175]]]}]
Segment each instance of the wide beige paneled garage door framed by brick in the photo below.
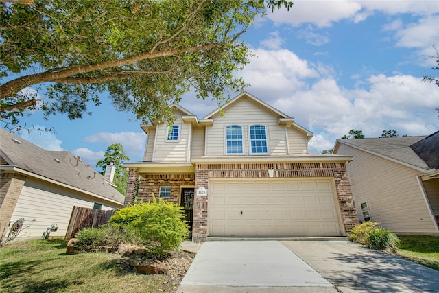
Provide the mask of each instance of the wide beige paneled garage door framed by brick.
[{"label": "wide beige paneled garage door framed by brick", "polygon": [[209,180],[209,236],[340,236],[331,180]]}]

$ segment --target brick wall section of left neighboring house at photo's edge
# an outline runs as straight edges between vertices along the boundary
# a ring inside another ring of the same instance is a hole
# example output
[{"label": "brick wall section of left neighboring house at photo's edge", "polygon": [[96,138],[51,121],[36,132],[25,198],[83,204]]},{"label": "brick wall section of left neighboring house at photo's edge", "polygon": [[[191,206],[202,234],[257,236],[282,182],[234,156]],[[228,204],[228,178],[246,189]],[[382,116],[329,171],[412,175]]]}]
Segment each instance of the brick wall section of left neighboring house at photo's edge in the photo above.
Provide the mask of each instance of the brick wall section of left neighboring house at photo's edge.
[{"label": "brick wall section of left neighboring house at photo's edge", "polygon": [[0,173],[0,239],[8,231],[9,221],[25,184],[26,176],[14,173]]}]

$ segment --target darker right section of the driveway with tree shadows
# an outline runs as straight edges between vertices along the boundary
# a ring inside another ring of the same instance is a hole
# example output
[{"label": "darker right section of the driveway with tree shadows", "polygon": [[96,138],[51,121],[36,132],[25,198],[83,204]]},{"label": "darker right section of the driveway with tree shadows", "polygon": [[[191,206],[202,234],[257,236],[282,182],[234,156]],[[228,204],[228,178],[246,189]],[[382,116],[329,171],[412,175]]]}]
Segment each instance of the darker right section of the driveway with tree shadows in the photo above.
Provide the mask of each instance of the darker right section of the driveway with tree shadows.
[{"label": "darker right section of the driveway with tree shadows", "polygon": [[353,242],[281,243],[341,292],[439,292],[439,271]]}]

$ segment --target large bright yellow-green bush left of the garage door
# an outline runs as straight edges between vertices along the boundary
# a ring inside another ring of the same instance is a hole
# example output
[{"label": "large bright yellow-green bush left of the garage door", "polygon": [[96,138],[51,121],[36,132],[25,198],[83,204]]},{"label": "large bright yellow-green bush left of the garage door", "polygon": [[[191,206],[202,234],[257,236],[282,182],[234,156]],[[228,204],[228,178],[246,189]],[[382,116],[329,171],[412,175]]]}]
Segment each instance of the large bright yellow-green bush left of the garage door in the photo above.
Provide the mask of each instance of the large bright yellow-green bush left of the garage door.
[{"label": "large bright yellow-green bush left of the garage door", "polygon": [[178,204],[154,199],[120,209],[110,223],[120,224],[130,242],[142,244],[154,255],[163,257],[186,239],[188,226],[184,216]]}]

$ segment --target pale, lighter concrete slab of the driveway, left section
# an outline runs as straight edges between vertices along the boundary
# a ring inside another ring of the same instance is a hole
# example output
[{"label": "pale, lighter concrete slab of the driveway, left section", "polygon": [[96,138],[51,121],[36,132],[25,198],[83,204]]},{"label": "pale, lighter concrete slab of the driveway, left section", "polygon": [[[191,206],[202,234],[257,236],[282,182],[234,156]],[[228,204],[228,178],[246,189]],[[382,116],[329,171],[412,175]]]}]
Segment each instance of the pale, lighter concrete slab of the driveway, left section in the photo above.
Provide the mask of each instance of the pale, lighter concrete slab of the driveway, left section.
[{"label": "pale, lighter concrete slab of the driveway, left section", "polygon": [[206,242],[177,292],[337,292],[277,241]]}]

